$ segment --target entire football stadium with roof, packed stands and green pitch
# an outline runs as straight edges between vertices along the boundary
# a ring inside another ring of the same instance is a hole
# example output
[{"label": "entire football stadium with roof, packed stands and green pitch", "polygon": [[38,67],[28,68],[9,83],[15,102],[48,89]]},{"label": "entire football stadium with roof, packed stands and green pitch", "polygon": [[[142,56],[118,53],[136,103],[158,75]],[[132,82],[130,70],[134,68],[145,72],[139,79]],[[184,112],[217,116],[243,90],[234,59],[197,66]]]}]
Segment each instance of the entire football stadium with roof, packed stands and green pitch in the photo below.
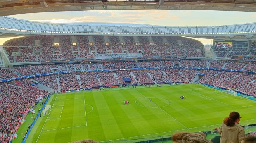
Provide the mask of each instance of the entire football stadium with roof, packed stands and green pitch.
[{"label": "entire football stadium with roof, packed stands and green pitch", "polygon": [[171,143],[181,131],[211,140],[220,136],[232,111],[242,117],[237,123],[244,136],[256,136],[256,23],[50,23],[10,16],[256,12],[255,5],[249,0],[1,0],[0,39],[10,39],[0,45],[0,143]]}]

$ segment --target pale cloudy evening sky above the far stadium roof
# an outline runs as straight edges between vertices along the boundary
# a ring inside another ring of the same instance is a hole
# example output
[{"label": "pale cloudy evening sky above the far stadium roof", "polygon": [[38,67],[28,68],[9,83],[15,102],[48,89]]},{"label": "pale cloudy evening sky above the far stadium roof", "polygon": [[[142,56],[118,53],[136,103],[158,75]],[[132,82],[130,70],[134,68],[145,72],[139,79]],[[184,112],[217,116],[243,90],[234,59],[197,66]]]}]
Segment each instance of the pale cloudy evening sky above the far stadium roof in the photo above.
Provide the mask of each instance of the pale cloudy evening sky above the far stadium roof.
[{"label": "pale cloudy evening sky above the far stadium roof", "polygon": [[[19,14],[10,17],[38,22],[128,23],[159,26],[217,26],[256,22],[254,12],[207,10],[96,10]],[[210,44],[212,40],[200,40]]]}]

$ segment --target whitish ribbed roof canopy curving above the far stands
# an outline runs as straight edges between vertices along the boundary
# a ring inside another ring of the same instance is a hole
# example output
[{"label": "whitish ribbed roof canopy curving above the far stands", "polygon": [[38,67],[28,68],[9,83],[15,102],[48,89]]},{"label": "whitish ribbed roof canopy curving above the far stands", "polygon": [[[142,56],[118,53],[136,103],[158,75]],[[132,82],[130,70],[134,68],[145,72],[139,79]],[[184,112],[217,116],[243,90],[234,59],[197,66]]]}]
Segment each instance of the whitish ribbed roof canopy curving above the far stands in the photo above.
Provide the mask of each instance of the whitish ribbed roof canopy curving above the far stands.
[{"label": "whitish ribbed roof canopy curving above the far stands", "polygon": [[138,24],[53,24],[0,17],[0,37],[24,35],[189,36],[256,39],[256,23],[227,26],[168,27]]}]

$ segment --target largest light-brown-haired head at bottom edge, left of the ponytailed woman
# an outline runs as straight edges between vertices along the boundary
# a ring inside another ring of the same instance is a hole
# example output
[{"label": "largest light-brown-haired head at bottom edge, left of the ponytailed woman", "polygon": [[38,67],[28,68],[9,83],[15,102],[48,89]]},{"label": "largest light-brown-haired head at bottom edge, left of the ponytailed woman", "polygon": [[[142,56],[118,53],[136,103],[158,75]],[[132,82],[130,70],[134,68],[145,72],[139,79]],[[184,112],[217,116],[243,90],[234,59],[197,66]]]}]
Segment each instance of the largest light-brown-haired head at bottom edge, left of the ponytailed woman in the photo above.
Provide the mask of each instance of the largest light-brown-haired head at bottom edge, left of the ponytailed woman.
[{"label": "largest light-brown-haired head at bottom edge, left of the ponytailed woman", "polygon": [[201,134],[189,132],[175,133],[172,140],[174,143],[209,143]]}]

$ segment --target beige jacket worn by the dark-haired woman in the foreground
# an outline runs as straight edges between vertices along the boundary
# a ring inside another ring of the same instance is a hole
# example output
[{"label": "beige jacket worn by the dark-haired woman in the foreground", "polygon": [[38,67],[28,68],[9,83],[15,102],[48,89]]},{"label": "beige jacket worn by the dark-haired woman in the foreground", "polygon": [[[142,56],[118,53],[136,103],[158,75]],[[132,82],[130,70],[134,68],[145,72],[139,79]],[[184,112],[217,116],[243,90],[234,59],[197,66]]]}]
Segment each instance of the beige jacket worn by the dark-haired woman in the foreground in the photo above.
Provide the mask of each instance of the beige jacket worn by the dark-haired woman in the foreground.
[{"label": "beige jacket worn by the dark-haired woman in the foreground", "polygon": [[224,122],[220,127],[220,143],[241,143],[245,136],[244,128],[235,123],[234,126],[226,126]]}]

